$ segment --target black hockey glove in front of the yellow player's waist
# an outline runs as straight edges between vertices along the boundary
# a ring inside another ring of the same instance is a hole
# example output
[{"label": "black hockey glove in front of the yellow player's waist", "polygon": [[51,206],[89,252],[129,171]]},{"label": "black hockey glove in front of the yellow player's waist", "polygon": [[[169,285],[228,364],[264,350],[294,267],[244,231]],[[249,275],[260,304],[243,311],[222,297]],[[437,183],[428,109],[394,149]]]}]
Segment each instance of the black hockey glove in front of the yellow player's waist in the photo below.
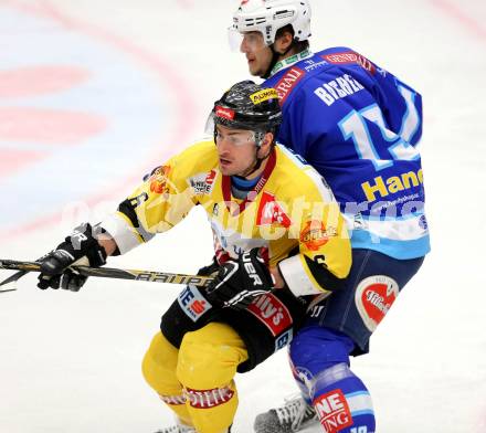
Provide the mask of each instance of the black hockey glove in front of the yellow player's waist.
[{"label": "black hockey glove in front of the yellow player's waist", "polygon": [[258,249],[253,249],[224,263],[205,295],[214,306],[245,309],[255,297],[271,292],[273,284]]}]

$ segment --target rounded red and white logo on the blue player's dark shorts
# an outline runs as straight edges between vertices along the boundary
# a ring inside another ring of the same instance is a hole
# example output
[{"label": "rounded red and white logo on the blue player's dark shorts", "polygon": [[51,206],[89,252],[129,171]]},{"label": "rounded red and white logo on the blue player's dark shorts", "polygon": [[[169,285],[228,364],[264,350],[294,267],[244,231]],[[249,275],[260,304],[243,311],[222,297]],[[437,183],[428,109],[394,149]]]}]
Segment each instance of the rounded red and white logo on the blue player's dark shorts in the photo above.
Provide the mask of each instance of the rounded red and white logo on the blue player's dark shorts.
[{"label": "rounded red and white logo on the blue player's dark shorts", "polygon": [[399,285],[387,275],[373,275],[359,283],[355,302],[366,327],[372,332],[399,296]]}]

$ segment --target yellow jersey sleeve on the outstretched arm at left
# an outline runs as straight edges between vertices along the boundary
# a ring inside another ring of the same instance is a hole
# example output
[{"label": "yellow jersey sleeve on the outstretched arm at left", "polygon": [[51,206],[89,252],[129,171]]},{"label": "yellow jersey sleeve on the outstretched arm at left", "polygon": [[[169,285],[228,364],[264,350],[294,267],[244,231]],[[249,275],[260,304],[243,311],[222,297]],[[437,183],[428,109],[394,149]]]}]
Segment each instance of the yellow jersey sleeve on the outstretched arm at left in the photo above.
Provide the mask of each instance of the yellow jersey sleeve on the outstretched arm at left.
[{"label": "yellow jersey sleeve on the outstretched arm at left", "polygon": [[197,144],[157,167],[118,211],[102,222],[120,254],[171,229],[199,204],[188,179],[211,163],[213,147],[205,141]]}]

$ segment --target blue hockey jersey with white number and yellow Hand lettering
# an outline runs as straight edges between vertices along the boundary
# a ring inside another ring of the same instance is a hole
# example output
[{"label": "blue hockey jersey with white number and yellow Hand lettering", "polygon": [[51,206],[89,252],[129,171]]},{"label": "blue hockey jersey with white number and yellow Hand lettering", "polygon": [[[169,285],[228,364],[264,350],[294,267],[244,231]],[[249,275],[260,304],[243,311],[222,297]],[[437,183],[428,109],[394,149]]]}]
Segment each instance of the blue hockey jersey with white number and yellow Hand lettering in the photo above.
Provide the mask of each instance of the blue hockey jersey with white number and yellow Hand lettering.
[{"label": "blue hockey jersey with white number and yellow Hand lettering", "polygon": [[352,247],[425,255],[421,95],[348,47],[300,53],[273,72],[264,86],[281,99],[278,141],[329,183]]}]

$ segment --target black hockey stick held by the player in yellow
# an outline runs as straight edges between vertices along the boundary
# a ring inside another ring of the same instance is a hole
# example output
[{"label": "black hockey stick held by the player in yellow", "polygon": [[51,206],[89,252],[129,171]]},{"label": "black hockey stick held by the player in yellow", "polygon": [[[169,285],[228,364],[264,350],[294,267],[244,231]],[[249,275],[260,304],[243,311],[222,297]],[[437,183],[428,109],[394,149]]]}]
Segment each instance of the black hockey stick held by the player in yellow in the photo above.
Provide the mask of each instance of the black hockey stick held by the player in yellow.
[{"label": "black hockey stick held by the player in yellow", "polygon": [[[193,284],[194,286],[205,287],[213,278],[210,276],[187,275],[187,274],[171,274],[168,272],[156,271],[135,271],[135,270],[119,270],[115,267],[89,267],[89,266],[71,266],[73,270],[84,276],[99,276],[103,278],[117,279],[134,279],[140,282],[151,283],[170,283],[170,284]],[[12,292],[15,288],[1,286],[12,285],[21,276],[28,272],[41,272],[41,265],[38,262],[21,262],[13,260],[0,258],[0,270],[21,271],[6,281],[0,283],[0,293]],[[22,275],[20,275],[22,274]]]}]

